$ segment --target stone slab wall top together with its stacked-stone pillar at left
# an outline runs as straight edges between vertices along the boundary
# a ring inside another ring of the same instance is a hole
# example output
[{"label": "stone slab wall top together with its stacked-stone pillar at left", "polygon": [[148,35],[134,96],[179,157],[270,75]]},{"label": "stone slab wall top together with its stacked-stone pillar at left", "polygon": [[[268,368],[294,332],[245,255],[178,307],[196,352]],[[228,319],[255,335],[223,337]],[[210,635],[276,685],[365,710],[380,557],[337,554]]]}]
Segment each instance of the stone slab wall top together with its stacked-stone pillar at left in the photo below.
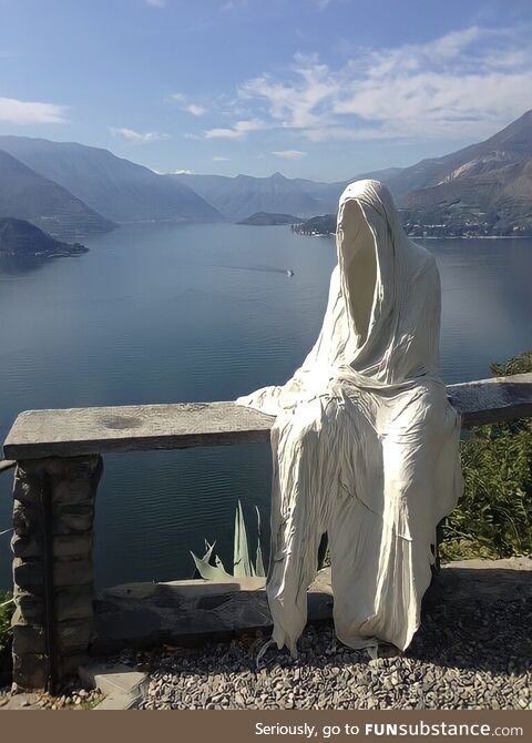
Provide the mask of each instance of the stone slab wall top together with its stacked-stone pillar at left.
[{"label": "stone slab wall top together with its stacked-stone pillar at left", "polygon": [[[532,374],[448,387],[462,426],[532,417]],[[94,497],[102,455],[268,441],[274,418],[234,403],[29,410],[3,445],[17,464],[13,678],[53,689],[88,652],[93,619]]]}]

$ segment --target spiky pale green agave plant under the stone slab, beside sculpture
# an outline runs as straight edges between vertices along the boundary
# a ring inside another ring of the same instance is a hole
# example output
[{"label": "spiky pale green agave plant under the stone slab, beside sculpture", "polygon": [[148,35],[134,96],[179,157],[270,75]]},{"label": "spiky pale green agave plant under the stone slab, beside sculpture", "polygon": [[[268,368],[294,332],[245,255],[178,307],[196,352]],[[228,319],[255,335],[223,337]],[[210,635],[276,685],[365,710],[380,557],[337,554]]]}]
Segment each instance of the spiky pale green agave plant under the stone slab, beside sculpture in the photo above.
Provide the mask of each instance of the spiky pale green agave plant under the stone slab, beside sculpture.
[{"label": "spiky pale green agave plant under the stone slab, beside sculpture", "polygon": [[[224,563],[217,554],[214,553],[216,542],[212,544],[205,540],[205,554],[198,558],[191,551],[197,572],[205,580],[215,580],[218,582],[233,582],[235,578],[264,578],[266,576],[263,562],[263,550],[260,548],[260,513],[257,512],[257,551],[255,563],[249,558],[249,546],[247,541],[247,529],[242,510],[242,503],[238,501],[235,513],[235,537],[233,547],[233,573],[225,570]],[[214,553],[214,554],[213,554]],[[214,560],[214,564],[212,564]]]}]

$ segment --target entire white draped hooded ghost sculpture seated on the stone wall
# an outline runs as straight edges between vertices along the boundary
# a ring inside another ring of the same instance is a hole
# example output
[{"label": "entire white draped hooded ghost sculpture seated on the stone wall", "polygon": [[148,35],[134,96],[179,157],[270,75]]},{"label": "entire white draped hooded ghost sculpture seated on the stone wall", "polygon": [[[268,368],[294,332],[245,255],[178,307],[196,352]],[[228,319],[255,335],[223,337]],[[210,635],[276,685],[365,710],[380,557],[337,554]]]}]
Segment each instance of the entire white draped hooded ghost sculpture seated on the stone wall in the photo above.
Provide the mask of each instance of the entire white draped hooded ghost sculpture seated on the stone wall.
[{"label": "entire white draped hooded ghost sculpture seated on the stone wall", "polygon": [[328,535],[334,619],[351,648],[406,649],[436,526],[462,491],[460,420],[438,376],[440,279],[377,181],[344,191],[321,332],[291,379],[237,404],[275,415],[267,596],[296,654]]}]

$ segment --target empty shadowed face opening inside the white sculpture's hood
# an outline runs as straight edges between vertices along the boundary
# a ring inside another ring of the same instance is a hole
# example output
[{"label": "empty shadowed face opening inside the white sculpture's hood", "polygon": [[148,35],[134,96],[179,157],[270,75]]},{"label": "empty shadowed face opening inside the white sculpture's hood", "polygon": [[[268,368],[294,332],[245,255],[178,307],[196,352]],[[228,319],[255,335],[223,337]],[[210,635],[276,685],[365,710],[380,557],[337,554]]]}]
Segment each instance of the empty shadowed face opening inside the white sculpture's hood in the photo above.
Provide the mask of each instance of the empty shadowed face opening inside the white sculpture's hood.
[{"label": "empty shadowed face opening inside the white sculpture's hood", "polygon": [[368,335],[377,283],[375,237],[359,203],[345,202],[338,224],[338,263],[347,294],[348,312],[358,344]]}]

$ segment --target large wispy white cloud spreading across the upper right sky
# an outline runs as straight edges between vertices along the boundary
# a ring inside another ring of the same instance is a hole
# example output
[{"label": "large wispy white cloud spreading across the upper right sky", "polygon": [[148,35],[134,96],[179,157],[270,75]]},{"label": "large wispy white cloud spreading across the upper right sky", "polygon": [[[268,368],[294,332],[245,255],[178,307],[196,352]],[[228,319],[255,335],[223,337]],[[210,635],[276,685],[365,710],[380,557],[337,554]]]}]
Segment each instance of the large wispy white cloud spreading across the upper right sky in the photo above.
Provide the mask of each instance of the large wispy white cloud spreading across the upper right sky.
[{"label": "large wispy white cloud spreading across the upper right sky", "polygon": [[[519,116],[532,101],[530,29],[478,26],[419,44],[358,49],[332,69],[298,54],[283,78],[244,82],[241,100],[263,128],[309,141],[472,138]],[[238,139],[238,130],[225,132]]]}]

